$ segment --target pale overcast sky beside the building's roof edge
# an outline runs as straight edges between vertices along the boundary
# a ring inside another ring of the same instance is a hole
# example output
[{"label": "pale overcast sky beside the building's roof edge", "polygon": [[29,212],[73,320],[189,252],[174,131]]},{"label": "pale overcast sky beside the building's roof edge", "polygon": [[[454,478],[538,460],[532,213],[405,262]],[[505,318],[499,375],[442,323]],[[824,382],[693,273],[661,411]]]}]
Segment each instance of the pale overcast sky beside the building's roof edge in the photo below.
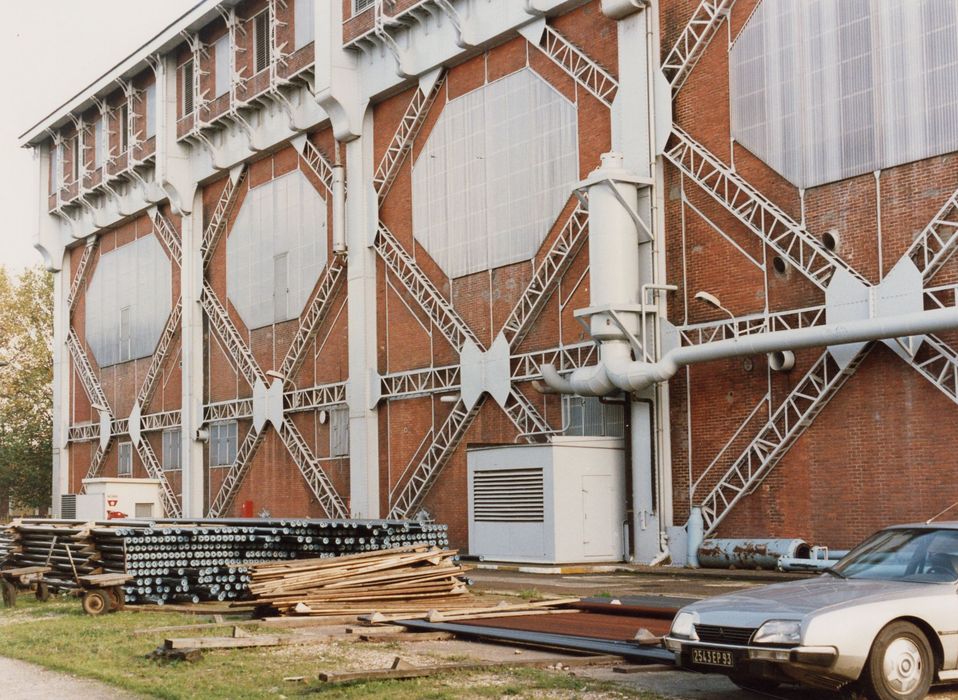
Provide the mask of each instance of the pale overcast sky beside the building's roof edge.
[{"label": "pale overcast sky beside the building's roof edge", "polygon": [[17,138],[197,0],[28,0],[0,22],[0,265],[41,262],[31,152]]}]

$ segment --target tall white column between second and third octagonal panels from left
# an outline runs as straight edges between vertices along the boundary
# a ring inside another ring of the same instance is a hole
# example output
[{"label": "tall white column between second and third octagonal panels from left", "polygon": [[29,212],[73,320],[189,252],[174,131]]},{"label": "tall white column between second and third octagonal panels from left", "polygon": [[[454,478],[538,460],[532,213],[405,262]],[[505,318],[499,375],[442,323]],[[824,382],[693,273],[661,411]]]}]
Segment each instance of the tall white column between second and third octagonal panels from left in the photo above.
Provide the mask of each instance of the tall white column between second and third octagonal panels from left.
[{"label": "tall white column between second and third octagonal panels from left", "polygon": [[346,245],[349,310],[349,509],[355,518],[379,517],[379,413],[376,338],[378,200],[373,189],[373,115],[363,117],[362,137],[346,144]]}]

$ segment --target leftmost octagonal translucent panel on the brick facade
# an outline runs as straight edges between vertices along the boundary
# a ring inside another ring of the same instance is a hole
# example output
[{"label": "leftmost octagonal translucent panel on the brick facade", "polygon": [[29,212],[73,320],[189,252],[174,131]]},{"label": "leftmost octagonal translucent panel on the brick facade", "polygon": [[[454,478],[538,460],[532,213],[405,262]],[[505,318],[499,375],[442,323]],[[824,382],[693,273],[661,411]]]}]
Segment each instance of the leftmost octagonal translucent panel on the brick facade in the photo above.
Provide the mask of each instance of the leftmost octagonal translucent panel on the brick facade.
[{"label": "leftmost octagonal translucent panel on the brick facade", "polygon": [[86,339],[100,367],[149,357],[170,315],[170,259],[155,236],[104,253],[86,294]]}]

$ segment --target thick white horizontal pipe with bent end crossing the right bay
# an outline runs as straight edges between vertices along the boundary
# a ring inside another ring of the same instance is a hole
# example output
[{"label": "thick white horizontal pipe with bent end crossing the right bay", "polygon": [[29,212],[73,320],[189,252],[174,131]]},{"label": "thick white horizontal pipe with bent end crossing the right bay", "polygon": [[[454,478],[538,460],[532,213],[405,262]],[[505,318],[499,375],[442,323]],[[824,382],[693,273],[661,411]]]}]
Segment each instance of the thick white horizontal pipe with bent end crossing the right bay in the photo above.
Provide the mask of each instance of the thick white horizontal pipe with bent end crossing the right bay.
[{"label": "thick white horizontal pipe with bent end crossing the right bay", "polygon": [[[568,380],[558,377],[552,365],[542,365],[540,371],[546,384],[561,393],[594,396],[596,394],[583,391],[601,390],[607,386],[614,387],[615,391],[633,392],[668,381],[681,367],[701,362],[924,335],[954,328],[958,328],[958,308],[934,309],[811,328],[757,333],[714,343],[679,347],[667,352],[658,362],[632,361],[629,359],[628,345],[624,341],[611,341],[602,344],[598,365],[578,369]],[[612,347],[607,351],[607,346]],[[556,380],[557,377],[559,381]]]}]

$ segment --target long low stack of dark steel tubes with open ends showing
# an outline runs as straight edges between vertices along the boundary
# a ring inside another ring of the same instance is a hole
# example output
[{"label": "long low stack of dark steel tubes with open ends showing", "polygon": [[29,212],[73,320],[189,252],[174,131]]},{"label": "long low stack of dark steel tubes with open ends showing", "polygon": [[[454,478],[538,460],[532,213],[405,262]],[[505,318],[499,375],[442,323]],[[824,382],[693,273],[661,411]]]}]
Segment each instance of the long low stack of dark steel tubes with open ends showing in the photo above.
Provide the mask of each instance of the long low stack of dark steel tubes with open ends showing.
[{"label": "long low stack of dark steel tubes with open ends showing", "polygon": [[449,545],[445,525],[404,520],[25,520],[11,532],[15,561],[53,567],[59,587],[125,573],[127,602],[158,605],[245,599],[253,563]]}]

